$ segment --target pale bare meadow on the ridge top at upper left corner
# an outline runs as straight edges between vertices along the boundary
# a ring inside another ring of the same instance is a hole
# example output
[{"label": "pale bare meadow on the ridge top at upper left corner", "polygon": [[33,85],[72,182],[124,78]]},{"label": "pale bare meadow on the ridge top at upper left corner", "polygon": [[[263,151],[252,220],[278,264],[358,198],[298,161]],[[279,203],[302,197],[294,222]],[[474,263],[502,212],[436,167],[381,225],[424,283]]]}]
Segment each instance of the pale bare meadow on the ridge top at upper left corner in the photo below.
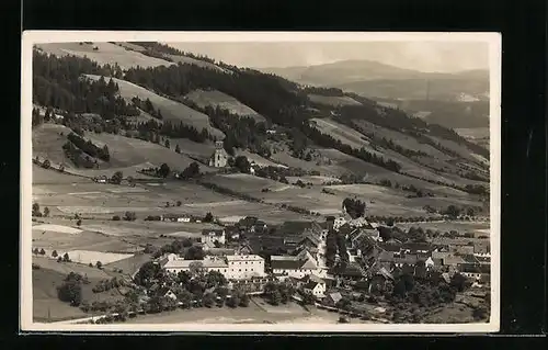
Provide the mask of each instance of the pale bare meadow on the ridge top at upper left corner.
[{"label": "pale bare meadow on the ridge top at upper left corner", "polygon": [[[173,65],[173,63],[164,59],[149,57],[137,50],[126,50],[124,47],[111,43],[93,43],[91,45],[84,43],[82,45],[79,43],[48,43],[36,44],[36,46],[43,52],[56,56],[85,56],[100,65],[109,64],[114,66],[114,64],[117,64],[122,69],[136,66],[158,67]],[[98,47],[98,50],[94,50],[93,47]]]}]

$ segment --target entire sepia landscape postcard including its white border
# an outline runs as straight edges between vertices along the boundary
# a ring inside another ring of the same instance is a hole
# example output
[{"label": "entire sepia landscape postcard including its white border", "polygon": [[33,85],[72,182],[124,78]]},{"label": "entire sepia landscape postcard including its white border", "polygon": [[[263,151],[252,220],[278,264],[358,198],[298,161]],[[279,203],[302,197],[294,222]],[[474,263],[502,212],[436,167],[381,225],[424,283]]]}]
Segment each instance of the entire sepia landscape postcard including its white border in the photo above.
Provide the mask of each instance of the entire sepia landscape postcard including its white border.
[{"label": "entire sepia landscape postcard including its white border", "polygon": [[496,33],[30,31],[21,328],[500,327]]}]

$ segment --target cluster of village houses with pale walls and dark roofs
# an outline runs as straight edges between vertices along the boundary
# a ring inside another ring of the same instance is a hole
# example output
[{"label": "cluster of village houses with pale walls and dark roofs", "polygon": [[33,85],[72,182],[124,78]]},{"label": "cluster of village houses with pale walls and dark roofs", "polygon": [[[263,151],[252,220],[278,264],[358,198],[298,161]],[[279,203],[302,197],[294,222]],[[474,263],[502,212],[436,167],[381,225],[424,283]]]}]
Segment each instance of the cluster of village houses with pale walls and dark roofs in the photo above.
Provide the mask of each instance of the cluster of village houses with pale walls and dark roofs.
[{"label": "cluster of village houses with pale walls and dark roofs", "polygon": [[[343,271],[328,268],[326,262],[330,229],[346,238],[350,259]],[[242,233],[249,236],[248,244],[238,241]],[[317,298],[331,295],[328,291],[341,281],[366,281],[370,289],[377,282],[393,280],[395,271],[404,269],[415,274],[435,270],[444,278],[459,272],[479,286],[490,278],[490,255],[475,250],[473,245],[383,241],[379,225],[364,218],[286,223],[273,233],[256,217],[246,217],[221,229],[204,229],[201,245],[206,252],[204,260],[168,255],[160,259],[161,267],[178,273],[199,266],[221,273],[231,283],[250,286],[251,292],[267,281],[287,281]],[[265,248],[274,251],[266,259],[259,256]]]}]

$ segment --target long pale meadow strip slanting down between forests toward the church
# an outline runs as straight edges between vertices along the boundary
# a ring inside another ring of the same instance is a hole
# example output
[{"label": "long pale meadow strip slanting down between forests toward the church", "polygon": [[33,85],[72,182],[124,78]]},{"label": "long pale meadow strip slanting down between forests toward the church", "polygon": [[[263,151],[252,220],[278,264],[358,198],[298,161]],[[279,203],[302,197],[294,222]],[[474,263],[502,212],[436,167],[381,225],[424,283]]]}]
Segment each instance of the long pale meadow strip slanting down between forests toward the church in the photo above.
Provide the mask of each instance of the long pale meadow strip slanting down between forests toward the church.
[{"label": "long pale meadow strip slanting down between forests toward the church", "polygon": [[[100,78],[99,76],[93,75],[87,75],[87,77],[94,80],[98,80]],[[114,78],[113,81],[118,84],[119,94],[127,101],[130,101],[135,97],[138,97],[141,100],[149,99],[150,102],[152,102],[153,106],[157,110],[159,109],[161,111],[164,121],[172,121],[176,123],[183,122],[186,125],[196,127],[198,131],[205,128],[209,134],[217,136],[218,138],[225,137],[225,134],[221,131],[210,126],[209,117],[207,115],[197,112],[180,102],[160,97],[135,83]]]}]

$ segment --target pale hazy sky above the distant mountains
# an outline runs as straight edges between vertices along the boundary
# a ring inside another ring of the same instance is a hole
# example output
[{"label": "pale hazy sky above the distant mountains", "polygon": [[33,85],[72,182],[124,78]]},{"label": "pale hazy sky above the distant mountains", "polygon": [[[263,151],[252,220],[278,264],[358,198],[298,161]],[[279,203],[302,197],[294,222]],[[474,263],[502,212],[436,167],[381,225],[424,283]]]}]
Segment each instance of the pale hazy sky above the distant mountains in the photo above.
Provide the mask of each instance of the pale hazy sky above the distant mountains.
[{"label": "pale hazy sky above the distant mountains", "polygon": [[479,42],[354,42],[354,43],[167,43],[230,65],[250,68],[329,64],[347,59],[426,71],[455,72],[489,68],[489,46]]}]

